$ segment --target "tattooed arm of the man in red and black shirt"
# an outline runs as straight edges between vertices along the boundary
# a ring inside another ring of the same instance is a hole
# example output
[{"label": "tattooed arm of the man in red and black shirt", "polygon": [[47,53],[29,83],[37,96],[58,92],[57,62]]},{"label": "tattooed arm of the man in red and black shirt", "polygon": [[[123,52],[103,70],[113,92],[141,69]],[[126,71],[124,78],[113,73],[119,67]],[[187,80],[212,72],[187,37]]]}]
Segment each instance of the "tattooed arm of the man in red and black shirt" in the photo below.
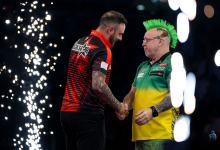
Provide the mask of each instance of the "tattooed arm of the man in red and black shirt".
[{"label": "tattooed arm of the man in red and black shirt", "polygon": [[92,71],[92,87],[101,100],[116,110],[121,109],[121,103],[114,97],[105,82],[106,75],[100,71]]}]

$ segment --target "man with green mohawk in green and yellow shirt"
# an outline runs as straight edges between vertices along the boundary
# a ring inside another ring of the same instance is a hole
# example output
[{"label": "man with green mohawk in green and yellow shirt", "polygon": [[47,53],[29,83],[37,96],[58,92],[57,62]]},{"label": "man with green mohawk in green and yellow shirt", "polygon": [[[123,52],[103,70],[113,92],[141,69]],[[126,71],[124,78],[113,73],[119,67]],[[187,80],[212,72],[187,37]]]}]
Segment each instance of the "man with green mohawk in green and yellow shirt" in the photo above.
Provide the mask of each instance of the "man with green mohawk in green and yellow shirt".
[{"label": "man with green mohawk in green and yellow shirt", "polygon": [[[171,104],[170,46],[177,43],[176,30],[164,20],[143,22],[147,32],[143,48],[150,60],[141,63],[124,103],[133,109],[132,141],[135,150],[162,150],[173,140],[173,127],[179,110]],[[117,114],[117,113],[116,113]],[[120,120],[125,116],[117,114]]]}]

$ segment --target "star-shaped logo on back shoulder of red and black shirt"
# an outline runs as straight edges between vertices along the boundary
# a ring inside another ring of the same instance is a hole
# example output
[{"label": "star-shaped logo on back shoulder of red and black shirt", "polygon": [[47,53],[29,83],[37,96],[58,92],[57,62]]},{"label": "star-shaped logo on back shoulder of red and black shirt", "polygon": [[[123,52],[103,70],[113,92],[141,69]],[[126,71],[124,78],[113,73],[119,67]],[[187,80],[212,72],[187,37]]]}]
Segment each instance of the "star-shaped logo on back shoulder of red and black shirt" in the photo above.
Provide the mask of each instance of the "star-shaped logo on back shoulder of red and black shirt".
[{"label": "star-shaped logo on back shoulder of red and black shirt", "polygon": [[86,55],[89,53],[90,46],[87,46],[88,42],[86,42],[84,45],[82,45],[82,44],[78,44],[78,41],[73,45],[72,50],[79,52],[77,58],[80,55],[82,55],[85,58]]}]

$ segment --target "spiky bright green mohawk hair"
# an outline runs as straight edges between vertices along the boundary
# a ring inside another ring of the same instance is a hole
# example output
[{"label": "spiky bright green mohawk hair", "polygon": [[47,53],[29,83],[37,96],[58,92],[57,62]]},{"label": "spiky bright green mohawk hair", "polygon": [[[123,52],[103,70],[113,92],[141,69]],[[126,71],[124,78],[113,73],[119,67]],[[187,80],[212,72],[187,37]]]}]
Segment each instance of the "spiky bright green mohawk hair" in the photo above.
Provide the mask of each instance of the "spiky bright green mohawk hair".
[{"label": "spiky bright green mohawk hair", "polygon": [[143,22],[146,30],[150,30],[152,28],[164,28],[168,31],[170,35],[170,47],[175,48],[177,44],[177,33],[174,29],[174,26],[167,23],[166,20],[162,19],[151,19]]}]

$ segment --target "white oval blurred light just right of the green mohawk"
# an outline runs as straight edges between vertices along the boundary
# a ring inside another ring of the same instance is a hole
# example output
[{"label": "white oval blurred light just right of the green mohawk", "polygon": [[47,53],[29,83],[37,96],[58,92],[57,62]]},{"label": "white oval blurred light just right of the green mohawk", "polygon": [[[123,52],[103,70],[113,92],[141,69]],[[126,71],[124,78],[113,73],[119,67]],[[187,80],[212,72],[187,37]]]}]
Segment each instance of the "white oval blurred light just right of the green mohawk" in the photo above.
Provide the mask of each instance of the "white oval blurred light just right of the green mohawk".
[{"label": "white oval blurred light just right of the green mohawk", "polygon": [[181,43],[186,42],[189,36],[189,20],[184,13],[177,16],[177,36]]}]

